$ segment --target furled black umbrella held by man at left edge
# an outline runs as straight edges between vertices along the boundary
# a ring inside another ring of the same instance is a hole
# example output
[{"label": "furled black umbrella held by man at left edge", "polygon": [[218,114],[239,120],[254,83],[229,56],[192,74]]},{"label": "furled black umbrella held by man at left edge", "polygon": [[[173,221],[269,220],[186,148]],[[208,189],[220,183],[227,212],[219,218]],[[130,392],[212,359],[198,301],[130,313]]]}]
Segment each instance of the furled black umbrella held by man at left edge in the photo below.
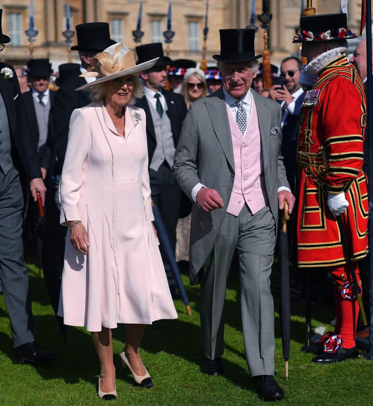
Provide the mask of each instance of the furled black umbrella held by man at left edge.
[{"label": "furled black umbrella held by man at left edge", "polygon": [[52,304],[53,310],[55,311],[57,323],[61,331],[63,341],[66,344],[66,326],[65,324],[63,324],[63,318],[57,316],[59,295],[61,290],[61,279],[54,255],[52,238],[49,233],[49,225],[44,215],[44,207],[41,204],[39,193],[37,193],[37,205],[39,209],[39,218],[36,224],[36,232],[43,244],[41,248],[41,263],[44,273],[44,281],[50,299],[50,304]]}]

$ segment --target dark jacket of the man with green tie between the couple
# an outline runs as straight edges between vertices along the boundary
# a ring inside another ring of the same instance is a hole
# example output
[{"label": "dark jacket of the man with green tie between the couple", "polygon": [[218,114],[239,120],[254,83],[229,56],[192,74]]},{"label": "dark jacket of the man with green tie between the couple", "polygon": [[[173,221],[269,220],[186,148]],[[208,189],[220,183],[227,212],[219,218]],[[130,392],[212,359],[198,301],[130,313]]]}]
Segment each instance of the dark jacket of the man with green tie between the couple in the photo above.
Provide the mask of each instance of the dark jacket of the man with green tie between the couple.
[{"label": "dark jacket of the man with green tie between the couple", "polygon": [[[172,138],[174,139],[175,148],[179,142],[179,135],[181,131],[181,124],[183,123],[187,108],[185,105],[184,97],[174,92],[168,90],[162,91],[164,98],[167,103],[167,115],[171,121]],[[148,139],[148,155],[149,155],[149,165],[153,158],[155,147],[157,146],[157,141],[155,139],[155,130],[152,115],[150,112],[148,101],[146,96],[142,99],[136,101],[136,106],[144,109],[146,114],[146,138]]]}]

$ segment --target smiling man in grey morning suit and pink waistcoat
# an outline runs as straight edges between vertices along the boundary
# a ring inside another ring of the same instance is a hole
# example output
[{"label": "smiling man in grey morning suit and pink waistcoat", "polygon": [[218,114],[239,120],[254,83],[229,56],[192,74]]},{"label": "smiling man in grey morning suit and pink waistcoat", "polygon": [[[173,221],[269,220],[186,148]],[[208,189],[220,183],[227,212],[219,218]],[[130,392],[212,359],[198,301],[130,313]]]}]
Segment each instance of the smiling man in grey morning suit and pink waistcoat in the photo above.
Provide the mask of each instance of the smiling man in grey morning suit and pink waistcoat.
[{"label": "smiling man in grey morning suit and pink waistcoat", "polygon": [[220,30],[223,78],[215,93],[190,105],[173,170],[194,201],[190,230],[190,281],[201,283],[201,371],[222,373],[222,317],[229,266],[240,263],[241,311],[247,364],[264,400],[284,397],[274,373],[274,310],[270,272],[278,208],[295,198],[279,157],[281,107],[250,89],[261,57],[255,30]]}]

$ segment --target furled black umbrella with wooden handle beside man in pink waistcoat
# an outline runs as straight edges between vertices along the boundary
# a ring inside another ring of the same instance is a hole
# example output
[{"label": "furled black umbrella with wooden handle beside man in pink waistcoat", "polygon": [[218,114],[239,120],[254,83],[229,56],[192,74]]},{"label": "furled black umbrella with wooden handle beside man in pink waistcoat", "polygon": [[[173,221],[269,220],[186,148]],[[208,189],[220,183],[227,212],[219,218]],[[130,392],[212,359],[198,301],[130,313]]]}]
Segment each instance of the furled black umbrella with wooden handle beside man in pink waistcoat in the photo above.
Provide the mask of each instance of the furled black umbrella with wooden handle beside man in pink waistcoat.
[{"label": "furled black umbrella with wooden handle beside man in pink waistcoat", "polygon": [[286,234],[286,221],[289,220],[288,204],[284,201],[282,227],[279,235],[279,279],[280,279],[280,324],[282,354],[285,359],[285,380],[289,376],[290,357],[290,277],[289,277],[289,243]]}]

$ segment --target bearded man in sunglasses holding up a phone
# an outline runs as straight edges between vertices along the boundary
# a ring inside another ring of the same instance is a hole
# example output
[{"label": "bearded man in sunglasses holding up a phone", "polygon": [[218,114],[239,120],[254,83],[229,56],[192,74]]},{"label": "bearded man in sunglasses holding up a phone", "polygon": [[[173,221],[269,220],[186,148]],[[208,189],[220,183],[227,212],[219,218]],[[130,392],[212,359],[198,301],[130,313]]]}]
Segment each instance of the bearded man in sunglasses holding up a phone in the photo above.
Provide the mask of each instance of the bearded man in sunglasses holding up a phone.
[{"label": "bearded man in sunglasses holding up a phone", "polygon": [[[299,84],[302,62],[298,58],[290,56],[281,62],[279,78],[273,78],[273,86],[270,88],[269,97],[281,104],[282,109],[282,147],[281,155],[284,156],[286,176],[292,193],[295,188],[295,170],[297,153],[297,131],[304,92]],[[277,84],[282,80],[283,85]]]}]

